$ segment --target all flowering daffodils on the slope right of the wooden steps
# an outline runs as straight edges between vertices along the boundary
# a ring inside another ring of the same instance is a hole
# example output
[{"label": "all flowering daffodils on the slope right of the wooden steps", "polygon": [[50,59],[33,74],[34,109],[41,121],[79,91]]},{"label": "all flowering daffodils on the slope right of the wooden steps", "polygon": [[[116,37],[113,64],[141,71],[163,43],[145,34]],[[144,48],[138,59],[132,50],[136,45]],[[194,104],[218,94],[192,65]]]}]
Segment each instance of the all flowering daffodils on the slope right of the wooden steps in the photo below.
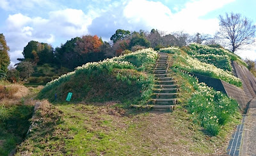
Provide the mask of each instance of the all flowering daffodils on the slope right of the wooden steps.
[{"label": "all flowering daffodils on the slope right of the wooden steps", "polygon": [[195,43],[185,48],[163,48],[161,51],[172,53],[172,70],[191,85],[181,85],[181,89],[193,92],[184,101],[184,105],[192,114],[194,122],[200,124],[207,133],[216,136],[223,125],[235,116],[239,117],[239,104],[236,100],[208,87],[205,83],[198,83],[198,80],[189,73],[218,78],[241,87],[241,80],[232,74],[231,60],[242,62],[241,64],[243,60],[228,50]]}]

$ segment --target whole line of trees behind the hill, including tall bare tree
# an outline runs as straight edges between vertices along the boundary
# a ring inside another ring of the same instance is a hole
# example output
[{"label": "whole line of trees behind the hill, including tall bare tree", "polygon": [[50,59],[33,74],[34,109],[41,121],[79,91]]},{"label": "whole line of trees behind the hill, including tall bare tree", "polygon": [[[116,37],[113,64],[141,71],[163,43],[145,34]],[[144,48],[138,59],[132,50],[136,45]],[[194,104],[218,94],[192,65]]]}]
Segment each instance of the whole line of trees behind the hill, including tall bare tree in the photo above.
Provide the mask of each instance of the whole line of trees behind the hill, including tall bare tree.
[{"label": "whole line of trees behind the hill, including tall bare tree", "polygon": [[[53,48],[48,43],[29,41],[22,52],[24,58],[18,59],[16,69],[8,71],[10,58],[9,47],[6,45],[4,35],[0,34],[0,79],[10,77],[29,78],[36,66],[50,64],[54,68],[65,68],[72,71],[75,67],[134,52],[142,48],[159,48],[169,46],[186,46],[189,43],[200,43],[205,45],[225,45],[228,43],[230,50],[235,52],[244,45],[254,43],[256,26],[246,17],[240,14],[226,13],[220,16],[220,31],[214,36],[209,34],[188,34],[184,31],[167,34],[164,31],[152,29],[150,32],[140,30],[130,32],[117,29],[109,42],[102,41],[98,36],[86,35],[68,40],[60,47]],[[225,41],[225,42],[223,42]],[[7,73],[7,74],[6,74]],[[11,75],[11,76],[10,76]],[[9,76],[9,77],[8,77]]]}]

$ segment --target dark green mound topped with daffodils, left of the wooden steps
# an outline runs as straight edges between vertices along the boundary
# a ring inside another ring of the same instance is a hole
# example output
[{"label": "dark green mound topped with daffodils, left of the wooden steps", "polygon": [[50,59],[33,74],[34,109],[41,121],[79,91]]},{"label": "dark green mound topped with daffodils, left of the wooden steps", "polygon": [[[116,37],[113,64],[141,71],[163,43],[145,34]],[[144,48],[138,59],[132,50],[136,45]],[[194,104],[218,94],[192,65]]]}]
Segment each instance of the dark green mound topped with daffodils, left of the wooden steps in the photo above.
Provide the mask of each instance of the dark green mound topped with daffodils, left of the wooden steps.
[{"label": "dark green mound topped with daffodils, left of the wooden steps", "polygon": [[47,83],[39,99],[65,101],[72,92],[72,101],[104,102],[147,99],[154,84],[148,66],[156,62],[157,53],[151,48],[139,50],[102,62],[77,67],[75,71]]}]

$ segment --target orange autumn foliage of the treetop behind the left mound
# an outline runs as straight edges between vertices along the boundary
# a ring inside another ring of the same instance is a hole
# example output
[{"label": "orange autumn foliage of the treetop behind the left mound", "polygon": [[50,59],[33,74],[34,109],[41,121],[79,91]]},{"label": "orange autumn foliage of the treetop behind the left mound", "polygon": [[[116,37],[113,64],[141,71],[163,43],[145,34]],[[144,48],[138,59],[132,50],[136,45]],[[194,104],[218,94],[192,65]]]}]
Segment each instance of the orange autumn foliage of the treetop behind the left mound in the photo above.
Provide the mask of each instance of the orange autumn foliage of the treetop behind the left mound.
[{"label": "orange autumn foliage of the treetop behind the left mound", "polygon": [[88,52],[100,52],[100,46],[103,44],[102,40],[97,36],[83,36],[81,39],[78,39],[77,42],[77,51],[81,53]]}]

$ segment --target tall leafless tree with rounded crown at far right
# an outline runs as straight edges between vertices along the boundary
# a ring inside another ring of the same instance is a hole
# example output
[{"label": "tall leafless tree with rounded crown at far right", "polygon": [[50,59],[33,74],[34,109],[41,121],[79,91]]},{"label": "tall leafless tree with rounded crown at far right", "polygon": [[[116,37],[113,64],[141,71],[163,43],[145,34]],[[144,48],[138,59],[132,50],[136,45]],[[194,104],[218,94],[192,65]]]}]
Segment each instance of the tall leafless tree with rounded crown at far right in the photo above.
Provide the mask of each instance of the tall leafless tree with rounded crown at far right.
[{"label": "tall leafless tree with rounded crown at far right", "polygon": [[220,15],[220,31],[217,32],[221,39],[227,39],[228,45],[234,53],[237,49],[254,43],[256,26],[239,13],[226,13]]}]

